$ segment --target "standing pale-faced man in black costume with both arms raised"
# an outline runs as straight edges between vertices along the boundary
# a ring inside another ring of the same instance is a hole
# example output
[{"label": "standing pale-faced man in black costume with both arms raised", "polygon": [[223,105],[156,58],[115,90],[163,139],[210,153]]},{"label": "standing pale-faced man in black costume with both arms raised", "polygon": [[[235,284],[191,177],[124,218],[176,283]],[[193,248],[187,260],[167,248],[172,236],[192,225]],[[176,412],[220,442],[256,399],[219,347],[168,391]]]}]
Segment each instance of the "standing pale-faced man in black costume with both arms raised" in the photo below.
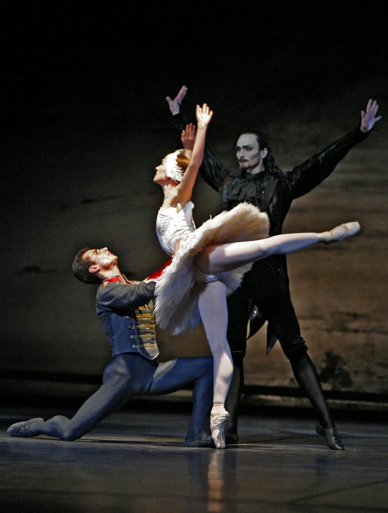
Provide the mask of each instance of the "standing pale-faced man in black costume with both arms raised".
[{"label": "standing pale-faced man in black costume with both arms raised", "polygon": [[[183,146],[191,149],[193,127],[188,125],[186,117],[180,112],[186,92],[187,87],[183,86],[173,100],[169,96],[166,100],[173,114],[173,124],[181,133]],[[376,101],[369,100],[366,111],[361,112],[359,126],[287,173],[278,168],[267,137],[258,130],[242,132],[238,138],[236,157],[240,174],[224,168],[207,149],[200,172],[203,179],[218,191],[217,213],[230,210],[238,203],[249,202],[267,212],[271,223],[270,235],[280,234],[292,201],[319,185],[353,146],[366,139],[381,117],[376,116],[377,110]],[[318,413],[317,433],[326,438],[331,449],[343,449],[315,367],[307,354],[307,345],[300,334],[290,297],[284,255],[272,255],[253,264],[251,271],[244,275],[241,287],[228,298],[228,313],[228,342],[234,373],[227,400],[231,416],[227,442],[238,441],[238,407],[244,382],[243,358],[247,348],[247,324],[251,319],[250,336],[268,321],[267,353],[279,340],[285,356],[290,360],[297,383]]]}]

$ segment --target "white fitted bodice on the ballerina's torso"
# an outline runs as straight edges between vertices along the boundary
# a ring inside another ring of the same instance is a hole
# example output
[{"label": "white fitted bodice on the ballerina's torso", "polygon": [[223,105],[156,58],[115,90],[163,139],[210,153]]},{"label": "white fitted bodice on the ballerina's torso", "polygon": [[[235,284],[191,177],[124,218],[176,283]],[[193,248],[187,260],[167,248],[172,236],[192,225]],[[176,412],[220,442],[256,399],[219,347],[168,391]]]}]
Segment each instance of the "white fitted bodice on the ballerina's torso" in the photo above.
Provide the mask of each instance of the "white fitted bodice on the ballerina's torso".
[{"label": "white fitted bodice on the ballerina's torso", "polygon": [[156,234],[161,248],[170,257],[175,252],[176,241],[184,238],[195,231],[193,221],[194,204],[188,201],[178,213],[176,207],[160,209],[156,218]]}]

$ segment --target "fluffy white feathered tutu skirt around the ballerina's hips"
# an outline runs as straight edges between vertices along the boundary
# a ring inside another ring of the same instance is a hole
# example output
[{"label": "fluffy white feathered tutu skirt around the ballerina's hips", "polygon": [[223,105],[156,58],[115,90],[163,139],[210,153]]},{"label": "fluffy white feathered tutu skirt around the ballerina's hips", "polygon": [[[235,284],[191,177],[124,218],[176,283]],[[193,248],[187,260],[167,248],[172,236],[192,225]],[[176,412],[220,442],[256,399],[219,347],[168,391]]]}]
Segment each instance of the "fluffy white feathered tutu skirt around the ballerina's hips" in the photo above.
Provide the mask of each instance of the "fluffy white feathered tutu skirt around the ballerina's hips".
[{"label": "fluffy white feathered tutu skirt around the ballerina's hips", "polygon": [[[212,244],[266,239],[269,227],[266,213],[249,203],[240,203],[188,232],[179,241],[172,263],[156,283],[155,317],[159,327],[178,335],[200,323],[198,268],[194,264],[197,253]],[[244,273],[251,267],[252,264],[248,264],[230,272],[228,295],[240,286]]]}]

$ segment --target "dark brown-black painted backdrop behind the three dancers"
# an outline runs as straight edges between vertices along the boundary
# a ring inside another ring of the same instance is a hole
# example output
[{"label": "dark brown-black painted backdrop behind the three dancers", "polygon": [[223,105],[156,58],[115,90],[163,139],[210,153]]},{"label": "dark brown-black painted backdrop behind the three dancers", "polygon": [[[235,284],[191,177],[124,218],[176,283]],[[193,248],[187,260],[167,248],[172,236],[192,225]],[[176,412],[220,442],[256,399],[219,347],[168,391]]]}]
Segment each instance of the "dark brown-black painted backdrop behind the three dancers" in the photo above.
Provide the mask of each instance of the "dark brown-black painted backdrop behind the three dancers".
[{"label": "dark brown-black painted backdrop behind the three dancers", "polygon": [[[165,262],[152,176],[178,145],[167,94],[188,85],[191,117],[211,105],[208,143],[230,166],[246,126],[268,133],[287,170],[353,129],[370,96],[387,110],[383,2],[3,2],[2,18],[0,368],[12,390],[76,393],[72,380],[95,380],[109,359],[94,287],[71,274],[80,247],[108,245],[140,279]],[[295,202],[285,226],[363,224],[343,246],[289,259],[327,389],[386,393],[385,123]],[[197,223],[215,213],[201,180],[194,201]],[[201,329],[159,340],[162,358],[207,351]],[[279,348],[264,358],[262,336],[247,382],[295,386]]]}]

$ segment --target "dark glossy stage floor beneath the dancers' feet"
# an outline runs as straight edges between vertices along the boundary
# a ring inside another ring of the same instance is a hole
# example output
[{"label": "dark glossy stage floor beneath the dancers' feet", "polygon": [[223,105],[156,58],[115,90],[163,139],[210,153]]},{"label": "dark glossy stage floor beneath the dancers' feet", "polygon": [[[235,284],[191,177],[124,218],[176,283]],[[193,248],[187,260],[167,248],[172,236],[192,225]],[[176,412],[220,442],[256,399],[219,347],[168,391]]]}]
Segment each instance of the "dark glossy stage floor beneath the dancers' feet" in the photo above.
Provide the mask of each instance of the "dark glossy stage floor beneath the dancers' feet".
[{"label": "dark glossy stage floor beneath the dancers' feet", "polygon": [[7,408],[0,416],[0,509],[72,513],[388,511],[388,426],[337,422],[345,451],[312,419],[240,419],[226,450],[183,445],[189,412],[121,411],[75,442],[11,438],[20,420],[68,412]]}]

